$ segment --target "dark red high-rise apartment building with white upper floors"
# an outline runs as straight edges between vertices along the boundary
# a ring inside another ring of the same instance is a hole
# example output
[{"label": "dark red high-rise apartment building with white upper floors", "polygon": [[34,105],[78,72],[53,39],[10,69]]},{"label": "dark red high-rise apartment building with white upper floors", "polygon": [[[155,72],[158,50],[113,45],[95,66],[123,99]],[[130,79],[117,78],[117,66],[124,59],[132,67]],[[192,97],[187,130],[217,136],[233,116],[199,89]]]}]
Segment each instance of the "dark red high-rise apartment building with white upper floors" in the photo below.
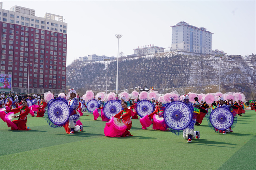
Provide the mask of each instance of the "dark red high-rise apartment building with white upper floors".
[{"label": "dark red high-rise apartment building with white upper floors", "polygon": [[[63,17],[0,2],[1,74],[12,74],[14,92],[65,92],[67,23]],[[30,66],[28,66],[30,64]],[[29,70],[28,70],[29,68]]]}]

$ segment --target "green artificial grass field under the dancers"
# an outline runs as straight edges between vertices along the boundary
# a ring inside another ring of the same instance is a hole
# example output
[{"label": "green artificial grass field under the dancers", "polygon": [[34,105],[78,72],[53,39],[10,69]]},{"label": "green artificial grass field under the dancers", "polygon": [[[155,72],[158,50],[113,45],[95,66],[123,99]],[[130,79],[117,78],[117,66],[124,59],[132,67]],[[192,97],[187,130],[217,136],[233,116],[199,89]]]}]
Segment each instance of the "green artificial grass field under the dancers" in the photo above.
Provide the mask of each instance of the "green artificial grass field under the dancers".
[{"label": "green artificial grass field under the dancers", "polygon": [[142,130],[132,119],[133,136],[105,137],[105,122],[85,113],[84,131],[69,135],[43,117],[28,116],[31,131],[11,131],[0,121],[0,169],[256,169],[256,113],[246,110],[233,133],[215,133],[204,118],[201,138]]}]

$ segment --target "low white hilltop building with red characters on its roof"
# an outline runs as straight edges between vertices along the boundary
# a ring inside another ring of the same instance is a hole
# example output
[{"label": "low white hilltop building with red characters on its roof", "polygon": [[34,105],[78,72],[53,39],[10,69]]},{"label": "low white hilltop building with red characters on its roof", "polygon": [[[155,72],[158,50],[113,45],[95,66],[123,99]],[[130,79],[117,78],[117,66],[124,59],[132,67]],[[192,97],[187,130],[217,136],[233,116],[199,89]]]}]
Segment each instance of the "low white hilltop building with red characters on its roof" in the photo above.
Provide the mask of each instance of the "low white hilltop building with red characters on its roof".
[{"label": "low white hilltop building with red characters on its roof", "polygon": [[163,52],[165,50],[165,48],[162,47],[157,47],[153,45],[145,45],[142,47],[138,47],[134,50],[134,54],[136,54],[137,56],[143,56],[143,55],[148,55],[148,54],[155,54],[155,53],[159,53],[159,52]]}]

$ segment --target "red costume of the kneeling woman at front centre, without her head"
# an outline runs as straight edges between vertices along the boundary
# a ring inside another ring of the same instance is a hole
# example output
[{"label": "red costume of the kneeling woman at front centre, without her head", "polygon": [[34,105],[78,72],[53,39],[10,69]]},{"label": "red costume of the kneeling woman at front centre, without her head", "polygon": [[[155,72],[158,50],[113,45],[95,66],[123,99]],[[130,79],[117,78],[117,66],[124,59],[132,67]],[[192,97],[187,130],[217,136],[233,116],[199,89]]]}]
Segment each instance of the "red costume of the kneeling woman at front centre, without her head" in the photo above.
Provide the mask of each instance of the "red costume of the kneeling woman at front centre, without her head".
[{"label": "red costume of the kneeling woman at front centre, without her head", "polygon": [[114,117],[117,119],[120,119],[120,117],[123,117],[122,121],[127,126],[126,131],[122,136],[132,136],[129,130],[131,129],[131,110],[126,108],[120,111],[118,114],[116,114]]}]

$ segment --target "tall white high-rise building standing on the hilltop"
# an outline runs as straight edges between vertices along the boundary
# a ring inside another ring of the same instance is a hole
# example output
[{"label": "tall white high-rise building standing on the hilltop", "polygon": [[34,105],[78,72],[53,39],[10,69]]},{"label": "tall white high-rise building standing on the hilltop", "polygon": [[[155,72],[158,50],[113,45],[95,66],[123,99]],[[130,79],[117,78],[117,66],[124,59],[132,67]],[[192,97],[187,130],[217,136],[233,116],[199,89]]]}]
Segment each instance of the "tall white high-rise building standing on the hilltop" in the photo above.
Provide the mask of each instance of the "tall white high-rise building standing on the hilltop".
[{"label": "tall white high-rise building standing on the hilltop", "polygon": [[212,34],[206,28],[189,25],[187,22],[177,22],[172,27],[171,50],[182,50],[200,54],[212,53]]}]

